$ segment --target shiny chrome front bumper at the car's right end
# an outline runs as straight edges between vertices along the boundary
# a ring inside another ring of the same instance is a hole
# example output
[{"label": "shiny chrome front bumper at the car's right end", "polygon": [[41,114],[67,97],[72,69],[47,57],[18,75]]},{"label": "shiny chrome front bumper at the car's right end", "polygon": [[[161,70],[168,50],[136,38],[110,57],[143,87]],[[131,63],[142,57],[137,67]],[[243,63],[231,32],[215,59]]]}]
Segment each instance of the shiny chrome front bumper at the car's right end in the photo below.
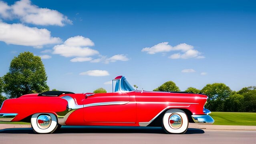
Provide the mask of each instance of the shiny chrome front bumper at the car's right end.
[{"label": "shiny chrome front bumper at the car's right end", "polygon": [[208,123],[208,124],[212,124],[214,123],[214,119],[209,116],[208,114],[210,114],[210,110],[204,108],[203,112],[205,113],[205,115],[192,115],[192,118],[194,120],[194,122],[196,123]]}]

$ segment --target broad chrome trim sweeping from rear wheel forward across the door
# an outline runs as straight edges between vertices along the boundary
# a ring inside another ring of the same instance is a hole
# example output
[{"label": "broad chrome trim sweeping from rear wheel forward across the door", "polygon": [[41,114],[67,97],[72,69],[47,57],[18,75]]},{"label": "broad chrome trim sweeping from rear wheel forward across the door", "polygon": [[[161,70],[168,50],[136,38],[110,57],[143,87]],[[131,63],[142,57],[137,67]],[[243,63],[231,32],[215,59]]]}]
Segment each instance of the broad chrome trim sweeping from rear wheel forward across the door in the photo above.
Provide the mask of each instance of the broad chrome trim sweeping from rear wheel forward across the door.
[{"label": "broad chrome trim sweeping from rear wheel forward across the door", "polygon": [[119,101],[119,102],[98,102],[93,104],[85,104],[85,105],[78,105],[75,100],[70,96],[63,96],[63,99],[67,100],[68,105],[67,109],[63,112],[56,112],[58,117],[58,124],[65,125],[66,120],[69,118],[69,115],[72,114],[75,110],[80,108],[86,108],[91,106],[106,106],[106,105],[121,105],[127,104],[127,101]]}]

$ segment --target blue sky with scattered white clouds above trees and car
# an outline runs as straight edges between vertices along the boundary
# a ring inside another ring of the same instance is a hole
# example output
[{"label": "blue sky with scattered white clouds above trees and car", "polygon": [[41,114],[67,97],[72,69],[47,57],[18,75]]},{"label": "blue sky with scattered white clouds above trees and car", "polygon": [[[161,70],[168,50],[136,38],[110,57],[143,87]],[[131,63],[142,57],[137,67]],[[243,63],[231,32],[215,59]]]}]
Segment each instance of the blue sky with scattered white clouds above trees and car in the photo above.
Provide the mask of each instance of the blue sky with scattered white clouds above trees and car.
[{"label": "blue sky with scattered white clouds above trees and car", "polygon": [[181,90],[255,86],[255,7],[252,0],[0,0],[0,76],[30,51],[42,57],[51,89],[111,92],[106,82],[118,75],[144,90],[169,80]]}]

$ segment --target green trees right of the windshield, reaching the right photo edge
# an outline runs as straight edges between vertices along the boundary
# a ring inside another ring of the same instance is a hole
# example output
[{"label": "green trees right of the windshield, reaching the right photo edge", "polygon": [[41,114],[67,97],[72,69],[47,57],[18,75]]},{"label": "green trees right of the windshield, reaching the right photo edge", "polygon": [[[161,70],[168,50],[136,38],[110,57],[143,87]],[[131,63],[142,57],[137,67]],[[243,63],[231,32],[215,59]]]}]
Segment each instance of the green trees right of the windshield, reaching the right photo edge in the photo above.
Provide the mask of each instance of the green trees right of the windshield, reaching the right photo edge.
[{"label": "green trees right of the windshield, reaching the right photo edge", "polygon": [[[180,92],[172,81],[165,82],[153,91]],[[205,108],[213,112],[256,112],[256,86],[244,87],[239,91],[231,90],[223,83],[206,84],[202,90],[193,87],[184,92],[206,94]]]}]

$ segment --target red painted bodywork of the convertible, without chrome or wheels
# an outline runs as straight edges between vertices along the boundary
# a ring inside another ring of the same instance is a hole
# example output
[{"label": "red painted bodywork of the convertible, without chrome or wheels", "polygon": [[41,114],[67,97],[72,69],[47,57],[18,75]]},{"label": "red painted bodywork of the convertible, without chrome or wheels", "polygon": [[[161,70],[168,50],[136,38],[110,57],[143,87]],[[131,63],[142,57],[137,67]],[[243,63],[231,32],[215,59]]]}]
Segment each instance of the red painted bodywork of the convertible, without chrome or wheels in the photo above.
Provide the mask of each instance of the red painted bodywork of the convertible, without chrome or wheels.
[{"label": "red painted bodywork of the convertible, without chrome or wheels", "polygon": [[[207,96],[168,92],[127,92],[94,94],[62,94],[58,97],[29,94],[6,100],[0,113],[17,113],[12,121],[20,121],[35,113],[56,114],[67,108],[63,96],[71,96],[76,104],[87,105],[99,102],[129,102],[122,105],[91,106],[75,110],[65,122],[66,125],[88,126],[139,126],[139,122],[149,122],[164,109],[187,109],[192,114],[204,114]],[[166,110],[167,110],[166,109]]]}]

